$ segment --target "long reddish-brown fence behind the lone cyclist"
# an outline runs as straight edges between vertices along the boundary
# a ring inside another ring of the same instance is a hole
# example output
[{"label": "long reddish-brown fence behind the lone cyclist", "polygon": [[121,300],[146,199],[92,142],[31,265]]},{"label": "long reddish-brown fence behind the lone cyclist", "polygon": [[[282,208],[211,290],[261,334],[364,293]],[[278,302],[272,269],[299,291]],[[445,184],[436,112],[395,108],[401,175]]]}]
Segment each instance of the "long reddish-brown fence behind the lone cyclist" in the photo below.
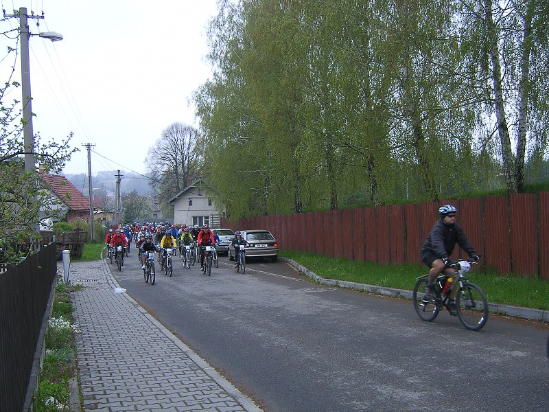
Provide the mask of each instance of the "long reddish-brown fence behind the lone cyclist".
[{"label": "long reddish-brown fence behind the lone cyclist", "polygon": [[[222,219],[222,227],[267,229],[281,250],[420,263],[419,247],[439,218],[439,207],[447,203],[458,208],[458,222],[483,265],[549,280],[549,192]],[[457,248],[452,257],[467,258]]]}]

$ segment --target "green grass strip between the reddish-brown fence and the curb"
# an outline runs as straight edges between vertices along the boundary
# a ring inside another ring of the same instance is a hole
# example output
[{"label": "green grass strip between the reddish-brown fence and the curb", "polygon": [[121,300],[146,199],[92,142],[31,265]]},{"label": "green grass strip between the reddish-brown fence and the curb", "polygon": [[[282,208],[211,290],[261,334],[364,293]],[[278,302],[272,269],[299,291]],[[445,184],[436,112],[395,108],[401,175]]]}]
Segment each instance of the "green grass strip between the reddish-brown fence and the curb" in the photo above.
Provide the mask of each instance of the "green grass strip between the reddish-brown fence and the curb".
[{"label": "green grass strip between the reddish-brown fence and the curb", "polygon": [[[412,290],[416,278],[427,268],[419,264],[376,264],[344,258],[329,258],[314,253],[281,251],[279,255],[305,266],[320,277],[360,284]],[[549,310],[549,282],[518,275],[498,275],[495,271],[469,272],[471,282],[478,284],[489,302]]]}]

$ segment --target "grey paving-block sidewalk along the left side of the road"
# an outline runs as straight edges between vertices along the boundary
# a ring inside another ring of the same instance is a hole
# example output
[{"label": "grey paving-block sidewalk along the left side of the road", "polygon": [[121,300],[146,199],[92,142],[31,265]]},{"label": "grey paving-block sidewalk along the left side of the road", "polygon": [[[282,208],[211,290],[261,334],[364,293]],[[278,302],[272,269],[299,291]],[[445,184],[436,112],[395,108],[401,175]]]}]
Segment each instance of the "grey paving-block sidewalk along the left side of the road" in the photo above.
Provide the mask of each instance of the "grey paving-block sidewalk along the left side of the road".
[{"label": "grey paving-block sidewalk along the left side of the road", "polygon": [[86,411],[261,411],[119,288],[104,260],[71,262]]}]

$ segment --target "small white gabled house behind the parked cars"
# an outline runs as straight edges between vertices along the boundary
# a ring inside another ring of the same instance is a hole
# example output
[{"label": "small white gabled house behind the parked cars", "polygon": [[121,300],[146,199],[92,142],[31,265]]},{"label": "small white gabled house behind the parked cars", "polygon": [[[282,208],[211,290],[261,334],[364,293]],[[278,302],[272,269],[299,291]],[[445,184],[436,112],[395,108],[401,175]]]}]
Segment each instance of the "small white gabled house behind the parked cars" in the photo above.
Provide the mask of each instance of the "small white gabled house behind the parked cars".
[{"label": "small white gabled house behind the parked cars", "polygon": [[224,205],[216,205],[215,198],[218,192],[202,179],[189,182],[167,203],[174,206],[174,223],[187,226],[202,226],[207,223],[210,227],[219,227],[220,218],[226,216]]}]

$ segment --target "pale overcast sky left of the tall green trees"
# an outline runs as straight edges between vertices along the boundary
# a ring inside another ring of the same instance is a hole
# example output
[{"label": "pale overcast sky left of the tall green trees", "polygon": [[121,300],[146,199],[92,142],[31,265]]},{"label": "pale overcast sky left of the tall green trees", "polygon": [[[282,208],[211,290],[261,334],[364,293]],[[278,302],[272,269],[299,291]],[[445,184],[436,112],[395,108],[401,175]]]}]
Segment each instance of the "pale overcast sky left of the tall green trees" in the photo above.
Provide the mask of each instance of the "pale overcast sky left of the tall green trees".
[{"label": "pale overcast sky left of the tall green trees", "polygon": [[[64,173],[87,174],[82,144],[90,143],[95,144],[92,173],[120,169],[145,174],[148,148],[167,126],[198,126],[189,102],[211,76],[206,25],[217,14],[215,0],[0,1],[6,14],[20,7],[28,14],[45,13],[39,27],[36,20],[29,21],[32,34],[63,36],[55,43],[30,38],[30,74],[34,133],[45,140],[62,139],[72,131],[71,146],[81,150]],[[4,32],[19,27],[19,20],[2,24]],[[5,37],[1,43],[16,45]],[[1,62],[2,73],[12,60]],[[21,81],[19,59],[16,65],[15,80]],[[13,99],[21,100],[20,88],[4,104]]]}]

